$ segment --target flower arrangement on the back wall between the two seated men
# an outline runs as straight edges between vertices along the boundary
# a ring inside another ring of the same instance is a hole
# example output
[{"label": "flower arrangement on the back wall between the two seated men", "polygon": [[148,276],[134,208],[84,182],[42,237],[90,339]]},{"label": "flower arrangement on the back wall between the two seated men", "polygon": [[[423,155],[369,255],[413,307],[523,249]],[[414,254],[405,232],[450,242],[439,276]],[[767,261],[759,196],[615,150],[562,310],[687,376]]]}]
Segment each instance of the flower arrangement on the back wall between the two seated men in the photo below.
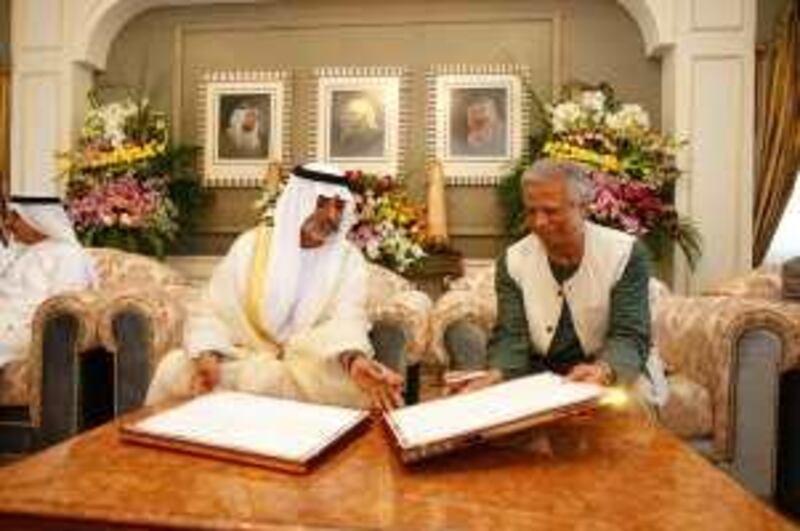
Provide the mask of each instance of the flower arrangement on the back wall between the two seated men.
[{"label": "flower arrangement on the back wall between the two seated men", "polygon": [[414,204],[397,179],[347,172],[358,221],[349,238],[367,259],[405,273],[425,257],[424,209]]}]

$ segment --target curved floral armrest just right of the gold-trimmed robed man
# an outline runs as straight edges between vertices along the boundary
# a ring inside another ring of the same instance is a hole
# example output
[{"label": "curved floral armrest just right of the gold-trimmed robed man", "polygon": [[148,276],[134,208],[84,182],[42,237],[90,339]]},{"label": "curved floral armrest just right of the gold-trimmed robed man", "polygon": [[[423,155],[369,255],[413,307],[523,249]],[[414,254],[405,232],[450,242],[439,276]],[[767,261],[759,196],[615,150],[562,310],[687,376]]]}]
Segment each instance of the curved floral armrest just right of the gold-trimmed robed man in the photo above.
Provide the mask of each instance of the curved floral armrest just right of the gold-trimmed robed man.
[{"label": "curved floral armrest just right of the gold-trimmed robed man", "polygon": [[404,333],[407,364],[422,360],[430,343],[429,316],[433,303],[425,293],[409,289],[396,292],[388,300],[369,308],[370,322],[383,321],[398,326]]}]

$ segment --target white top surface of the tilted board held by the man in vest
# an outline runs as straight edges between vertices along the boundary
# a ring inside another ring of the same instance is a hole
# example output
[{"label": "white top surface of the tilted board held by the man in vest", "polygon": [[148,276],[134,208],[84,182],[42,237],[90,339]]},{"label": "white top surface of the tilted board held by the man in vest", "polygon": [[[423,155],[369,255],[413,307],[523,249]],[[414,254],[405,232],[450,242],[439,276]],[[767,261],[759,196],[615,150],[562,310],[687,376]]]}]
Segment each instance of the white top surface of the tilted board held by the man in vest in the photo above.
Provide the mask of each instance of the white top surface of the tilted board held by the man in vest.
[{"label": "white top surface of the tilted board held by the man in vest", "polygon": [[553,373],[517,378],[387,415],[400,445],[413,448],[600,397],[604,389]]}]

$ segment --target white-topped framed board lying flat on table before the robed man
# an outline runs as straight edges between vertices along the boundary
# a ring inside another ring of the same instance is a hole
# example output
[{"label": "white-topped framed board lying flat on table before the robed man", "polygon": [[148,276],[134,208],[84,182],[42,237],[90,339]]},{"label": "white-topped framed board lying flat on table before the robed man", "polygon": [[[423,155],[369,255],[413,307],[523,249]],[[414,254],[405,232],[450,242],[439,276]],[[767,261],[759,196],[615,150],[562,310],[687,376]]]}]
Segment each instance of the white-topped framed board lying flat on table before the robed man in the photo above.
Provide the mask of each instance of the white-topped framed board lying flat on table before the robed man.
[{"label": "white-topped framed board lying flat on table before the robed man", "polygon": [[366,411],[221,391],[121,425],[123,440],[307,472]]}]

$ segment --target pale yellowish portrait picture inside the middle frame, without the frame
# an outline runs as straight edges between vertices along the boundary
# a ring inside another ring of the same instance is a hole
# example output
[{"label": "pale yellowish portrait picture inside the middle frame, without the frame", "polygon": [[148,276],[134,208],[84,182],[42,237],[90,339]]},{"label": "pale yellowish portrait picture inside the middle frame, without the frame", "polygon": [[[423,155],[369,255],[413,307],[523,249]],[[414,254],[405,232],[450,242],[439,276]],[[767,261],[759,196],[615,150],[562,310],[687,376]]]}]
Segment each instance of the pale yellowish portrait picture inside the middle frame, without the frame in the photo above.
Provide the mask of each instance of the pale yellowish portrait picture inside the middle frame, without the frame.
[{"label": "pale yellowish portrait picture inside the middle frame, without the frame", "polygon": [[331,159],[386,156],[386,110],[381,94],[369,90],[331,93],[328,145]]}]

